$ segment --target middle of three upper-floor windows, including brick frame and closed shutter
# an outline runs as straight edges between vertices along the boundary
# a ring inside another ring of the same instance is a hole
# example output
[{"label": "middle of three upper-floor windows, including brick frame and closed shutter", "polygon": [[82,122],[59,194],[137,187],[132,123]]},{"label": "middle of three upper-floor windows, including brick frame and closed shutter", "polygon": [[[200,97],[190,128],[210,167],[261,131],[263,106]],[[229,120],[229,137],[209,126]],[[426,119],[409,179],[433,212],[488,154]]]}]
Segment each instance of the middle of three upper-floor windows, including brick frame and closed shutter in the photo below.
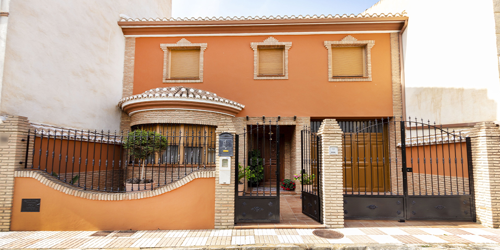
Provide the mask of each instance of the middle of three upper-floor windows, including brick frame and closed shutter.
[{"label": "middle of three upper-floor windows, including brick frame and closed shutter", "polygon": [[253,79],[288,79],[288,49],[291,42],[269,36],[263,42],[251,42]]}]

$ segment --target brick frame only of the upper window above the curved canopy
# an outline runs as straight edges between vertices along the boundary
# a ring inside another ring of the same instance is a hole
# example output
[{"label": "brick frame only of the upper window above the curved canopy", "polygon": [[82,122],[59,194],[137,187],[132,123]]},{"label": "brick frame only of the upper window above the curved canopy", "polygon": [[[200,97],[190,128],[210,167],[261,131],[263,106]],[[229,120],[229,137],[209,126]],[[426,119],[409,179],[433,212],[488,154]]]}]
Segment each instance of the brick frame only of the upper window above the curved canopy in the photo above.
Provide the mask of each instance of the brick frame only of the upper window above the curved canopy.
[{"label": "brick frame only of the upper window above the curved canopy", "polygon": [[[191,43],[185,38],[176,43],[160,43],[159,47],[163,50],[163,83],[169,82],[203,82],[203,53],[206,49],[206,43]],[[170,50],[171,49],[199,49],[199,78],[176,78],[169,76],[170,68]]]}]

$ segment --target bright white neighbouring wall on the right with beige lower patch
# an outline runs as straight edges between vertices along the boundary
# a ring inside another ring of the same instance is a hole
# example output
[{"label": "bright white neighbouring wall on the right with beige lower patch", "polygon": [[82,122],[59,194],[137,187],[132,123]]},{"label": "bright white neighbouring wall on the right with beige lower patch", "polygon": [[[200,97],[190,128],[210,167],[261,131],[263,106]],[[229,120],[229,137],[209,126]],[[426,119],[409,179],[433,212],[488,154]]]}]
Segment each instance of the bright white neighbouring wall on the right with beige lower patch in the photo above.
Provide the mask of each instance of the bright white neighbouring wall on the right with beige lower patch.
[{"label": "bright white neighbouring wall on the right with beige lower patch", "polygon": [[406,114],[441,124],[500,119],[491,0],[381,0],[363,13],[405,10]]}]

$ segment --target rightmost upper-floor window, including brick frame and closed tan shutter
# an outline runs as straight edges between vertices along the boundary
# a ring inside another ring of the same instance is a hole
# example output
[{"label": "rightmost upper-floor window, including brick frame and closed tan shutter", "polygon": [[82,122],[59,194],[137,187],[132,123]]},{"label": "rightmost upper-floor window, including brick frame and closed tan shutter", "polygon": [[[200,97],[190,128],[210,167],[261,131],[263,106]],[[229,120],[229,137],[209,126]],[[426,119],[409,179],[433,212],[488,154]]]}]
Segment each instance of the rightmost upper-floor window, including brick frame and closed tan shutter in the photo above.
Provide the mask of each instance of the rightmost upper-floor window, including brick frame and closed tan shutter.
[{"label": "rightmost upper-floor window, including brick frame and closed tan shutter", "polygon": [[324,41],[328,50],[328,81],[371,81],[373,40],[358,41],[347,35],[340,41]]}]

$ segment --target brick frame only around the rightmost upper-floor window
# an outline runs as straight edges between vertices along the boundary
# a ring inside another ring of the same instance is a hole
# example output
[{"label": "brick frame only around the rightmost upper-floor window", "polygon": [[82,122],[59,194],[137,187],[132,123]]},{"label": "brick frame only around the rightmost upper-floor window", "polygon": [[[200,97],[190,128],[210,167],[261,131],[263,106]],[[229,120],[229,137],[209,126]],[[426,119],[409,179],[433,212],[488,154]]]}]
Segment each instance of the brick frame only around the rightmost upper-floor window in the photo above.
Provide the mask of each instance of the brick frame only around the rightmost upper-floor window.
[{"label": "brick frame only around the rightmost upper-floor window", "polygon": [[[328,50],[328,81],[371,81],[371,48],[375,45],[374,40],[357,40],[351,35],[345,36],[339,41],[324,41]],[[332,76],[331,48],[332,47],[363,47],[364,50],[364,74],[363,76]]]}]

